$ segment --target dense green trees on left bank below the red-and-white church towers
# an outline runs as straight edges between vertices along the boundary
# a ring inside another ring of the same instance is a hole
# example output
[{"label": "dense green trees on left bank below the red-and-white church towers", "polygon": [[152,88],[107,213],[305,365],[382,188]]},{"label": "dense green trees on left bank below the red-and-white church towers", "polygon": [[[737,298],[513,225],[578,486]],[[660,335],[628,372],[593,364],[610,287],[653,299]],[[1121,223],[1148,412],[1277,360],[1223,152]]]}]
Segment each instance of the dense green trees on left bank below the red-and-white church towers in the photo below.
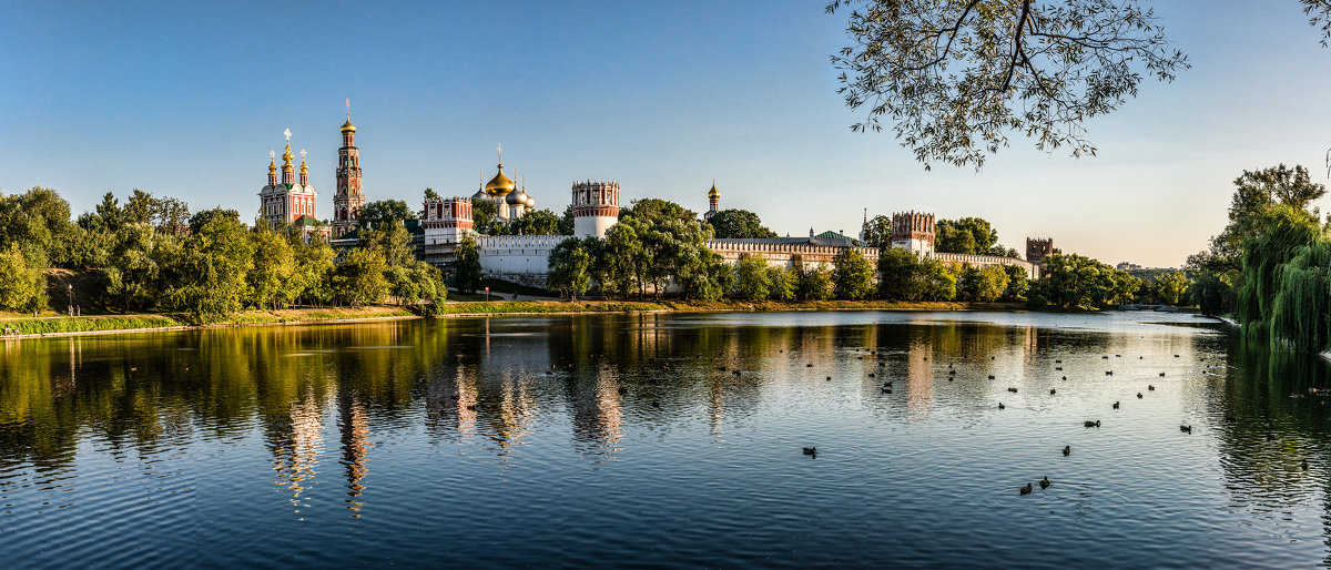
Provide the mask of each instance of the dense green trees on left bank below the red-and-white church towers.
[{"label": "dense green trees on left bank below the red-and-white church towers", "polygon": [[298,228],[246,226],[222,208],[190,214],[180,200],[137,189],[124,205],[106,193],[71,220],[56,190],[32,188],[0,196],[0,310],[48,306],[49,268],[96,274],[98,294],[80,309],[168,310],[200,322],[246,308],[445,298],[439,272],[417,260],[399,220],[362,226],[361,245],[339,258]]}]

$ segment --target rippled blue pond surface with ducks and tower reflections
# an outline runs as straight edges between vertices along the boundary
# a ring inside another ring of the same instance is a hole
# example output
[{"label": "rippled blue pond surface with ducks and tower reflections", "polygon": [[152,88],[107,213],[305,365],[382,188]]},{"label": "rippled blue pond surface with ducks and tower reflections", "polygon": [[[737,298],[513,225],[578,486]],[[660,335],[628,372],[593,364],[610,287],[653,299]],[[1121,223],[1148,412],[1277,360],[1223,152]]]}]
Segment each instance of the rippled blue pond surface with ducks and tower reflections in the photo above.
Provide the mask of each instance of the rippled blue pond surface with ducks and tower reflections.
[{"label": "rippled blue pond surface with ducks and tower reflections", "polygon": [[0,566],[1326,565],[1326,386],[1155,313],[8,342]]}]

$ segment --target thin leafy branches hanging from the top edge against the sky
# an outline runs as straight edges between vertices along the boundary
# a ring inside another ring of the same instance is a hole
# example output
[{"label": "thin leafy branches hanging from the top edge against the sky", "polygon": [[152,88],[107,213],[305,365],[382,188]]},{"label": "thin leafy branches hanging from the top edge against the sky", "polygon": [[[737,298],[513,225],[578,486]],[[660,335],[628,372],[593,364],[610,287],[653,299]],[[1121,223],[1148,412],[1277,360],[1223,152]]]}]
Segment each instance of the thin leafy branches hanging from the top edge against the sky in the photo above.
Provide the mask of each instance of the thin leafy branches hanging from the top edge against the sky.
[{"label": "thin leafy branches hanging from the top edge against the sky", "polygon": [[978,169],[1012,132],[1094,154],[1083,121],[1135,97],[1143,75],[1173,81],[1189,68],[1142,4],[832,0],[828,13],[855,7],[853,44],[832,56],[847,107],[868,105],[852,131],[881,131],[886,116],[925,168]]}]

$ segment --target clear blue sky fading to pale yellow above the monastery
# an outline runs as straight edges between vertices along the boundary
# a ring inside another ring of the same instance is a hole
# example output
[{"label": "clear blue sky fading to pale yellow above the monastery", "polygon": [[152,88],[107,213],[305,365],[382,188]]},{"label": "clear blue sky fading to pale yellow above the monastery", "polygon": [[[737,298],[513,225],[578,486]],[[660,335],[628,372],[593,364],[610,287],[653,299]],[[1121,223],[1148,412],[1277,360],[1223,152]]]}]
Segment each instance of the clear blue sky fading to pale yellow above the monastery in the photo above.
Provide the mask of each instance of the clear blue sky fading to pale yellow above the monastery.
[{"label": "clear blue sky fading to pale yellow above the monastery", "polygon": [[1328,181],[1331,49],[1295,0],[1147,1],[1193,68],[1090,121],[1094,157],[1014,136],[980,172],[851,132],[824,4],[0,0],[0,192],[55,188],[77,214],[138,188],[249,218],[290,129],[329,217],[346,99],[366,198],[413,206],[474,193],[502,144],[556,213],[584,178],[703,212],[715,177],[781,236],[917,210],[1021,252],[1179,266],[1244,169]]}]

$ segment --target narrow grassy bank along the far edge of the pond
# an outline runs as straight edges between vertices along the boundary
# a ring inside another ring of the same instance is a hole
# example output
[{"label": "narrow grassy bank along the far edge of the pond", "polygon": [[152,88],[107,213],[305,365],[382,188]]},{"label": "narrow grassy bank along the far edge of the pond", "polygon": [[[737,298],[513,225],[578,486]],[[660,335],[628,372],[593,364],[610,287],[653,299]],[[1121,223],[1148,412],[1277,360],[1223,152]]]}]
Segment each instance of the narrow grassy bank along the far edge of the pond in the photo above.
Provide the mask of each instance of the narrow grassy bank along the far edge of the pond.
[{"label": "narrow grassy bank along the far edge of the pond", "polygon": [[[450,301],[431,318],[478,318],[478,317],[560,317],[578,314],[630,314],[630,313],[780,313],[780,312],[849,312],[849,310],[889,310],[889,312],[1033,312],[1022,304],[1009,302],[958,302],[958,301],[712,301],[693,302],[677,300],[662,301]],[[1038,312],[1038,310],[1037,310]],[[0,317],[0,326],[48,328],[35,333],[0,334],[0,340],[25,340],[76,336],[137,334],[180,330],[206,330],[241,326],[284,326],[284,325],[327,325],[354,322],[385,322],[425,320],[402,308],[365,306],[357,309],[280,309],[250,310],[232,316],[226,321],[190,325],[170,314],[134,313],[101,314],[85,317]],[[141,326],[157,322],[160,326]],[[124,324],[125,326],[118,326]],[[25,326],[27,325],[27,326]]]}]

